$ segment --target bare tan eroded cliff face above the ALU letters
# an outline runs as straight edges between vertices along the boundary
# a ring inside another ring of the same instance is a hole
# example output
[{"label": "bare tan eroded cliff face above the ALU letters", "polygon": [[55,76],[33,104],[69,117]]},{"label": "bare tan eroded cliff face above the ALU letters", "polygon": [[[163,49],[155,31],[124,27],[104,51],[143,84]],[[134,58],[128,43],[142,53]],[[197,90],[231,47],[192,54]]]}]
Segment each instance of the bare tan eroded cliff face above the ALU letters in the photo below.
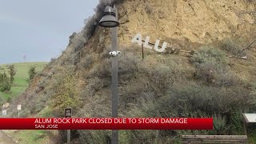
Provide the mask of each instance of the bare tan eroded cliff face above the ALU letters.
[{"label": "bare tan eroded cliff face above the ALU letters", "polygon": [[140,0],[118,6],[122,42],[134,34],[207,43],[254,34],[255,1]]}]

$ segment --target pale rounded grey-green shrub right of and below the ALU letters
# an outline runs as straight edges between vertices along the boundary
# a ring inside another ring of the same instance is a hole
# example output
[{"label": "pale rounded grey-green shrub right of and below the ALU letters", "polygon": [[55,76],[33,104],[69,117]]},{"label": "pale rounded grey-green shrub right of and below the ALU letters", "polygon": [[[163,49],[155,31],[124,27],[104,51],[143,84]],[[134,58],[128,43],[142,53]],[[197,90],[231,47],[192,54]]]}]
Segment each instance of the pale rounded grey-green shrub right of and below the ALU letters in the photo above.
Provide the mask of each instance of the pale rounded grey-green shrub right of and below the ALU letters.
[{"label": "pale rounded grey-green shrub right of and below the ALU letters", "polygon": [[195,66],[194,78],[213,86],[234,86],[238,79],[229,70],[225,54],[214,47],[202,47],[190,59]]}]

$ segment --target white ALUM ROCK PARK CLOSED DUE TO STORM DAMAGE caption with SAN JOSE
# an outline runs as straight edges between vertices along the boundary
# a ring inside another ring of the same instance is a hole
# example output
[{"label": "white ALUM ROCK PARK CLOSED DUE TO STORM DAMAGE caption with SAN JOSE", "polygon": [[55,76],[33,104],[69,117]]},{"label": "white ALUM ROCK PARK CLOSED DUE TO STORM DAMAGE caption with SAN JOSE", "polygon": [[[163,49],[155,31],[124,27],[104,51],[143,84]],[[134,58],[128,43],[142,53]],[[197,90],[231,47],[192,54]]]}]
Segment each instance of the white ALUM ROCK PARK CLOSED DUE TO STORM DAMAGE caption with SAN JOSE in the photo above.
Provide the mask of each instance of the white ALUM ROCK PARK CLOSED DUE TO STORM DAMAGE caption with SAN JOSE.
[{"label": "white ALUM ROCK PARK CLOSED DUE TO STORM DAMAGE caption with SAN JOSE", "polygon": [[[58,125],[94,126],[94,124],[187,124],[187,118],[36,118],[35,129],[58,129]],[[81,127],[82,128],[82,127]]]}]

